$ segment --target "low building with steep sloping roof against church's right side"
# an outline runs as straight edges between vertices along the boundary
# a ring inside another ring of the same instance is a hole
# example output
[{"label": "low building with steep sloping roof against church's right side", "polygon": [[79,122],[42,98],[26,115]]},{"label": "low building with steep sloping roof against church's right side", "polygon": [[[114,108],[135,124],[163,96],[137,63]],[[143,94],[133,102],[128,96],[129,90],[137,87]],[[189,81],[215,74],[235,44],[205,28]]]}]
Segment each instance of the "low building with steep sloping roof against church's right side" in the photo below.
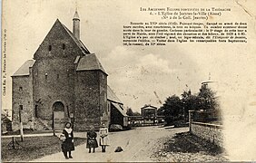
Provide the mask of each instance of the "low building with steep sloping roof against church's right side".
[{"label": "low building with steep sloping roof against church's right side", "polygon": [[124,128],[128,126],[128,116],[123,110],[123,102],[118,99],[112,89],[107,86],[107,105],[110,110],[110,124],[119,124]]}]

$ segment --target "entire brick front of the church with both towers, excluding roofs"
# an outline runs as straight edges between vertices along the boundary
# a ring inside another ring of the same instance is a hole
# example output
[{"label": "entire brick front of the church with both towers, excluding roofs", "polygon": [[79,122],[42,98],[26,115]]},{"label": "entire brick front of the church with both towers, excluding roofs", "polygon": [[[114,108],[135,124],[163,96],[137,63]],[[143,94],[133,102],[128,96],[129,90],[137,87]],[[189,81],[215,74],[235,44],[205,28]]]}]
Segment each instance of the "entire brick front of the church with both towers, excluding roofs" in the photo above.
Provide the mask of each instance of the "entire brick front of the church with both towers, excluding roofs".
[{"label": "entire brick front of the church with both towers, excluding roofs", "polygon": [[[109,124],[107,75],[99,70],[76,72],[75,58],[83,55],[57,20],[34,53],[35,62],[30,75],[13,77],[14,129],[19,129],[20,105],[24,109],[22,120],[25,128],[51,129],[56,101],[64,104],[66,121],[74,115],[76,130],[88,130],[92,125],[99,129],[102,122]],[[20,85],[23,91],[19,91]]]}]

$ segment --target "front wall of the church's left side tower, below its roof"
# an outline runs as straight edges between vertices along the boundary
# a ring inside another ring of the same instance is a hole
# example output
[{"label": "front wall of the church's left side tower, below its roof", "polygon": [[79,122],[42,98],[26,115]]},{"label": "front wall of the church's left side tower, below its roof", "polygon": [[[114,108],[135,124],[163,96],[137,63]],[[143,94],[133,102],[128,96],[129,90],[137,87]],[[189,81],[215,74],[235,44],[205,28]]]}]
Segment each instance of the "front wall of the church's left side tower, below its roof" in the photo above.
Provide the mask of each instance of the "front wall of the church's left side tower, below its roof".
[{"label": "front wall of the church's left side tower, below its roof", "polygon": [[13,79],[12,119],[13,129],[20,129],[19,110],[24,129],[34,129],[33,85],[32,76],[15,76]]}]

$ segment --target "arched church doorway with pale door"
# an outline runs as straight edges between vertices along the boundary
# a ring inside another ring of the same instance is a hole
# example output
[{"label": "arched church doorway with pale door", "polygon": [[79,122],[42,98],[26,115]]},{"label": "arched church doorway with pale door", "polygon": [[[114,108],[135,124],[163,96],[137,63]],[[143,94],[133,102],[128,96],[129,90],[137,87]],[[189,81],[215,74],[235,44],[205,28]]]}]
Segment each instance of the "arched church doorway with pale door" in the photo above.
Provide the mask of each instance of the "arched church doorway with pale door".
[{"label": "arched church doorway with pale door", "polygon": [[54,129],[62,130],[64,129],[65,118],[64,118],[64,104],[61,101],[56,101],[54,103]]}]

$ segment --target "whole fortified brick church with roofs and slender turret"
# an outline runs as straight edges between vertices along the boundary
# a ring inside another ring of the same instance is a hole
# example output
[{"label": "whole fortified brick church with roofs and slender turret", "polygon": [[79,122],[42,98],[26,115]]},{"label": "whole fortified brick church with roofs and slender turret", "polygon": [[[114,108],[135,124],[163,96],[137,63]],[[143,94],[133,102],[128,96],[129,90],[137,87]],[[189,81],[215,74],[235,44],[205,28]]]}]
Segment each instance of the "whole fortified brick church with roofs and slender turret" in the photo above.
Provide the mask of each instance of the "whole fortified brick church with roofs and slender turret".
[{"label": "whole fortified brick church with roofs and slender turret", "polygon": [[[99,129],[111,124],[113,104],[122,112],[118,98],[107,85],[108,74],[94,53],[80,40],[80,18],[73,18],[73,32],[58,19],[43,43],[12,76],[13,129],[64,129],[71,121],[74,130]],[[113,97],[113,96],[112,96]],[[117,99],[116,101],[114,99]]]}]

